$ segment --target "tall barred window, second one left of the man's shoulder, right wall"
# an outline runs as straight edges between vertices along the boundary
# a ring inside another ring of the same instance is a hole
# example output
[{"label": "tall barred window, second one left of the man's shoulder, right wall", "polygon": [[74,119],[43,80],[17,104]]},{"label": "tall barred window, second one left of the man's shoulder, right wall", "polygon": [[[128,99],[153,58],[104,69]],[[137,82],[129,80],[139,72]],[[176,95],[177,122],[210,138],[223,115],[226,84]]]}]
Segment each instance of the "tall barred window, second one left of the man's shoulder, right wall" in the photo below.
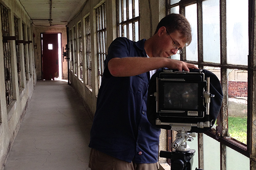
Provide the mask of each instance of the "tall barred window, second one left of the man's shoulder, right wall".
[{"label": "tall barred window, second one left of the man's shoulder, right wall", "polygon": [[85,18],[85,34],[86,34],[86,57],[87,57],[87,85],[92,87],[92,52],[91,52],[91,29],[90,18]]}]

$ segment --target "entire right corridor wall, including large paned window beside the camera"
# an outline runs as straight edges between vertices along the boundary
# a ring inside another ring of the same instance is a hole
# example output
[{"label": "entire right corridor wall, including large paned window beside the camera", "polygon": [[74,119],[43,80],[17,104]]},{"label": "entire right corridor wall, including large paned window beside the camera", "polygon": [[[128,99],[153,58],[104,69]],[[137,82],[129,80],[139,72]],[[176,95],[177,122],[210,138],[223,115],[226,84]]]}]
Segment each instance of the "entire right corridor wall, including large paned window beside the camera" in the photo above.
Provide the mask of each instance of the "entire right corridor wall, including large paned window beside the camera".
[{"label": "entire right corridor wall, including large paned window beside the camera", "polygon": [[[255,170],[255,9],[255,0],[88,0],[68,24],[71,84],[94,113],[109,44],[119,36],[149,38],[166,14],[182,13],[191,24],[192,42],[171,58],[214,72],[224,92],[216,129],[198,134],[191,144],[196,150],[192,169]],[[175,136],[168,131],[166,144],[166,135],[160,137],[161,149]]]}]

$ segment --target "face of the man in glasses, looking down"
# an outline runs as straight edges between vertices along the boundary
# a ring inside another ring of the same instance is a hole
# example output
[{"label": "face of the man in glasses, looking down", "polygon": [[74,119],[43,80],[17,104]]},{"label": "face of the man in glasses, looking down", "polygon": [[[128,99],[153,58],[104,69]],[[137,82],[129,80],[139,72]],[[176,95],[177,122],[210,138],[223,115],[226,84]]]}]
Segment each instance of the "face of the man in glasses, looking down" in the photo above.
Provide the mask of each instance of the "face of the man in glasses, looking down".
[{"label": "face of the man in glasses, looking down", "polygon": [[186,44],[186,38],[182,38],[179,31],[168,33],[165,27],[159,30],[159,41],[156,43],[156,54],[159,57],[169,57],[175,55],[178,49],[183,49]]}]

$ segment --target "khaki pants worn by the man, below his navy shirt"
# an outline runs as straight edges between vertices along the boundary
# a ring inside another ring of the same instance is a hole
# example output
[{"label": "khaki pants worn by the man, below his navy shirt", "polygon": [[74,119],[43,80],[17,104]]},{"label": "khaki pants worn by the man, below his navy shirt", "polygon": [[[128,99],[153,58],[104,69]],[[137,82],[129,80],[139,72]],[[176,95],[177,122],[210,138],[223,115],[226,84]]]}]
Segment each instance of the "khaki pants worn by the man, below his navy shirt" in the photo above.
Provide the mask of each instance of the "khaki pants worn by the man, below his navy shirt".
[{"label": "khaki pants worn by the man, below his navy shirt", "polygon": [[159,163],[133,164],[92,149],[89,168],[91,170],[158,170]]}]

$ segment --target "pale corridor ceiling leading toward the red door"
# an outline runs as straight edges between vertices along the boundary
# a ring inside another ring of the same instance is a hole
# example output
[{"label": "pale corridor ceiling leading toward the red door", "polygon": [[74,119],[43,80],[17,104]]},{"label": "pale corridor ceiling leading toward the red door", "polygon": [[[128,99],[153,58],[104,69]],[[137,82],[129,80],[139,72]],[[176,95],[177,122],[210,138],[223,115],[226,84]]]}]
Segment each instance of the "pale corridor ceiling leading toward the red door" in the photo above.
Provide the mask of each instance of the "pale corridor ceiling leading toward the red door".
[{"label": "pale corridor ceiling leading toward the red door", "polygon": [[67,25],[85,6],[87,0],[19,0],[34,25]]}]

